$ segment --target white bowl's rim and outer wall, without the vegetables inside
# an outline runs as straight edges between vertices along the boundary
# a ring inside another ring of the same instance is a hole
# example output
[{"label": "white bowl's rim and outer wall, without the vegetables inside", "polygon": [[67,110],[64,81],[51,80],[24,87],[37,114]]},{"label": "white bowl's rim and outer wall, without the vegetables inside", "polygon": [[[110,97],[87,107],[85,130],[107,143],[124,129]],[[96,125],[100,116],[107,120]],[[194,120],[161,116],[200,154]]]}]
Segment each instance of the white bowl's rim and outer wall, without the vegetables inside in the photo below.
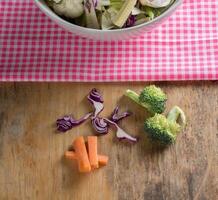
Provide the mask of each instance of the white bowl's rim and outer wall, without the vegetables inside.
[{"label": "white bowl's rim and outer wall, without the vegetables inside", "polygon": [[152,21],[137,26],[133,26],[125,29],[115,29],[115,30],[96,30],[96,29],[77,26],[75,24],[72,24],[62,19],[47,6],[44,0],[34,0],[34,1],[48,17],[50,17],[53,21],[55,21],[57,24],[59,24],[66,30],[85,38],[94,39],[94,40],[104,40],[104,41],[130,39],[144,32],[148,32],[151,29],[160,25],[164,21],[164,19],[169,17],[176,10],[176,8],[182,3],[182,0],[175,0],[172,6],[168,10],[166,10],[162,15],[156,17]]}]

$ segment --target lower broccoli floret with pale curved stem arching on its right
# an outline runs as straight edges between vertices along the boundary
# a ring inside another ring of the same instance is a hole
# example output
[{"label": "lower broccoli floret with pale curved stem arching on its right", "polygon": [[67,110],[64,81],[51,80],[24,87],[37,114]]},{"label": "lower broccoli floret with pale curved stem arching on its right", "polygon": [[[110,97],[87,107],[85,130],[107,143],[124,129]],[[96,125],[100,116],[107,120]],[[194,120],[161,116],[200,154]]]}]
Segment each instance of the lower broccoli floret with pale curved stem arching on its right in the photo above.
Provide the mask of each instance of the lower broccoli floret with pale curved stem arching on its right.
[{"label": "lower broccoli floret with pale curved stem arching on its right", "polygon": [[[181,125],[177,123],[178,118],[181,119]],[[174,106],[167,118],[162,114],[155,114],[154,117],[145,121],[145,131],[152,140],[158,141],[160,144],[172,144],[176,140],[177,134],[186,124],[184,112],[178,106]]]}]

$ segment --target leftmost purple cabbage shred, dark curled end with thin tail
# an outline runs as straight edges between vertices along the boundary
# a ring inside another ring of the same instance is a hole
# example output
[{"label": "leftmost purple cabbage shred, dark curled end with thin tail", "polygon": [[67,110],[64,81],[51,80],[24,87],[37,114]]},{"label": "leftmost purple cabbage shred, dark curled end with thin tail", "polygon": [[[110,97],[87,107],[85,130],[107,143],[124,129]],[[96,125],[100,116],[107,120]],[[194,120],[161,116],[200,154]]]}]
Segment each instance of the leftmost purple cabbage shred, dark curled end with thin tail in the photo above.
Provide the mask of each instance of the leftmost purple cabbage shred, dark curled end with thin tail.
[{"label": "leftmost purple cabbage shred, dark curled end with thin tail", "polygon": [[66,132],[72,129],[73,127],[78,126],[82,124],[83,122],[85,122],[91,115],[92,113],[88,113],[84,117],[78,120],[74,119],[71,116],[64,116],[63,118],[60,118],[56,121],[57,130],[60,132]]}]

